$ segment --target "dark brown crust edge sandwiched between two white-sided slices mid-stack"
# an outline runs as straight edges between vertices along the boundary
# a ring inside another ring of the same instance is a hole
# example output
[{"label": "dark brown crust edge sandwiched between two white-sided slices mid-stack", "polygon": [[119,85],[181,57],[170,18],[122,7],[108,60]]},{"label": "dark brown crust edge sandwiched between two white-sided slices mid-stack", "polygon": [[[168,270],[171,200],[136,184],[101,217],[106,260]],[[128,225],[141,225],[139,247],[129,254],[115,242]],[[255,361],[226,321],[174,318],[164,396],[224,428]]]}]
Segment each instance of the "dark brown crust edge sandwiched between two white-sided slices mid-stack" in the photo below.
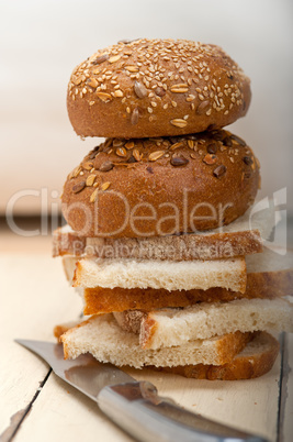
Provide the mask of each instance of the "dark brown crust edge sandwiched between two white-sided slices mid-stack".
[{"label": "dark brown crust edge sandwiched between two white-sided slices mid-stack", "polygon": [[293,270],[248,273],[246,291],[213,287],[207,290],[86,288],[84,314],[122,312],[125,310],[151,311],[165,307],[188,307],[196,302],[232,301],[234,299],[273,299],[293,296]]}]

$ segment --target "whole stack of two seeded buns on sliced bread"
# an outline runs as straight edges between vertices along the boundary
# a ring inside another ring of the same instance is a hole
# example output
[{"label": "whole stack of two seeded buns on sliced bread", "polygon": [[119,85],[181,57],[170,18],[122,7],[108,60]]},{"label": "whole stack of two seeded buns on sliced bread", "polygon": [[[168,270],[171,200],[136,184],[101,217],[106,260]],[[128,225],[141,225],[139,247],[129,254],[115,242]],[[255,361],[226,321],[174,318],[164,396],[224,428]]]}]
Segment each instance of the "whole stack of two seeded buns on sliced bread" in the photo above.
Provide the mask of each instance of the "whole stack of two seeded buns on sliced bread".
[{"label": "whole stack of two seeded buns on sliced bread", "polygon": [[74,70],[78,135],[102,136],[67,177],[54,256],[86,318],[55,330],[65,357],[187,377],[245,379],[293,332],[292,254],[263,250],[273,208],[253,206],[259,162],[224,126],[250,81],[215,45],[121,41]]}]

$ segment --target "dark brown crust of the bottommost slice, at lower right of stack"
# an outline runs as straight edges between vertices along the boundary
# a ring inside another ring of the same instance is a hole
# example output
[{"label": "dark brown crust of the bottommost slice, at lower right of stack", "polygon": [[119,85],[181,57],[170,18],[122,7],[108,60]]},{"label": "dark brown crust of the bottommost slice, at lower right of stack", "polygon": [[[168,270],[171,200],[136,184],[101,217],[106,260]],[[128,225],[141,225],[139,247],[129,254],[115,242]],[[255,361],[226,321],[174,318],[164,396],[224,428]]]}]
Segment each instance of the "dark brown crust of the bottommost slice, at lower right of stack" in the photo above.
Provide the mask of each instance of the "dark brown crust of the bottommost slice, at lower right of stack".
[{"label": "dark brown crust of the bottommost slice, at lower right of stack", "polygon": [[[171,373],[194,379],[209,380],[240,380],[252,379],[268,373],[278,356],[279,342],[267,332],[261,332],[253,341],[266,343],[262,352],[240,353],[232,362],[224,365],[185,365],[178,367],[155,368],[160,372]],[[252,342],[253,342],[252,341]]]}]

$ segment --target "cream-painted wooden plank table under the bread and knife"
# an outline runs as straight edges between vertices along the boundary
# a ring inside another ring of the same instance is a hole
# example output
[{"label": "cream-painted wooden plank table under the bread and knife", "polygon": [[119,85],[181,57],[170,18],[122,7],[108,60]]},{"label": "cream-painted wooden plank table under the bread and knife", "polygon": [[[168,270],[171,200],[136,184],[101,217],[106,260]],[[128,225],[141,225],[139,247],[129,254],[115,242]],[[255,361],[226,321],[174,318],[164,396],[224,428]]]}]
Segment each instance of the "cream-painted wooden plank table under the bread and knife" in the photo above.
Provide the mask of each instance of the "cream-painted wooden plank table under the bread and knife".
[{"label": "cream-painted wooden plank table under the bread and knife", "polygon": [[[59,259],[27,240],[21,251],[5,239],[0,255],[1,380],[0,441],[131,441],[95,404],[70,387],[48,365],[13,342],[15,338],[50,340],[55,324],[76,319],[81,299],[68,287]],[[18,253],[16,253],[18,252]],[[160,395],[191,411],[267,437],[293,440],[293,336],[281,338],[273,369],[244,382],[205,382],[158,374],[128,373],[154,383]]]}]

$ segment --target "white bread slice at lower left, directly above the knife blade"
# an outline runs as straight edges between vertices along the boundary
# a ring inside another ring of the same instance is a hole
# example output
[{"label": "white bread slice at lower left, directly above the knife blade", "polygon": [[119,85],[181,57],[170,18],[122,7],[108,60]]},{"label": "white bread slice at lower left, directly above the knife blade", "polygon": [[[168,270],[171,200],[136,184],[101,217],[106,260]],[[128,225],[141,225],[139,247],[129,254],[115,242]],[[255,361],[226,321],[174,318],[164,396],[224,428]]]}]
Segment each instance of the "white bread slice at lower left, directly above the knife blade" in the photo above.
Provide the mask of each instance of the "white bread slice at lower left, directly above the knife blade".
[{"label": "white bread slice at lower left, directly above the knife blade", "polygon": [[171,349],[143,350],[136,334],[122,330],[112,314],[103,314],[93,316],[68,330],[60,336],[60,341],[65,358],[76,358],[89,352],[100,362],[142,368],[145,365],[223,365],[232,361],[251,338],[251,333],[232,333],[210,340],[195,340]]}]

